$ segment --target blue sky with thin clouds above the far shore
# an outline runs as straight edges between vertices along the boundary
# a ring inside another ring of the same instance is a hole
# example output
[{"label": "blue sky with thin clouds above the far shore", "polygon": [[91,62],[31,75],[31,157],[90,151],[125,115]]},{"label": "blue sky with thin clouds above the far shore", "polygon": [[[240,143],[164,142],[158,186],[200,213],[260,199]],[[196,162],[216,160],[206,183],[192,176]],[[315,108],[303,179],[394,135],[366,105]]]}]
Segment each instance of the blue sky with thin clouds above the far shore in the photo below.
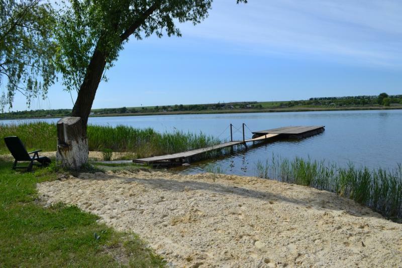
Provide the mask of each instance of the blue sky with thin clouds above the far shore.
[{"label": "blue sky with thin clouds above the far shore", "polygon": [[[235,2],[215,0],[181,38],[130,40],[93,108],[402,94],[399,0]],[[60,83],[31,104],[72,106]]]}]

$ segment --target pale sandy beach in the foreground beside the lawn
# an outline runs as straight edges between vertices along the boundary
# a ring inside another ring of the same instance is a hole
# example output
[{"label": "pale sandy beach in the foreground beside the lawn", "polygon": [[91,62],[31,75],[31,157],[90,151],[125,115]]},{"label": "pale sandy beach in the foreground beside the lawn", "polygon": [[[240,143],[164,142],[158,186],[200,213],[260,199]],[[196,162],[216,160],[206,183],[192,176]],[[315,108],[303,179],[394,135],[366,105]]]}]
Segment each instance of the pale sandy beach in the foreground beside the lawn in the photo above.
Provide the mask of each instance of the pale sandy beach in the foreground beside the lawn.
[{"label": "pale sandy beach in the foreground beside the lawn", "polygon": [[[215,180],[215,181],[214,181]],[[401,267],[402,225],[352,200],[253,177],[81,174],[38,184],[178,267]]]}]

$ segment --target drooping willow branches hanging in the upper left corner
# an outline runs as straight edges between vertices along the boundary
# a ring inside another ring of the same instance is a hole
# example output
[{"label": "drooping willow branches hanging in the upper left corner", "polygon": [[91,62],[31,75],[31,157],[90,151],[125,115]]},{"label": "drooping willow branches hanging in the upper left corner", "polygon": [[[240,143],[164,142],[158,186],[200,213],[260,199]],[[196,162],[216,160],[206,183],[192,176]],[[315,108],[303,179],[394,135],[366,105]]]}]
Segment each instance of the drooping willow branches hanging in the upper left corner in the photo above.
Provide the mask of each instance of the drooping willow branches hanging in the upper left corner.
[{"label": "drooping willow branches hanging in the upper left corner", "polygon": [[13,106],[16,92],[45,97],[55,79],[55,12],[39,0],[0,1],[0,106]]}]

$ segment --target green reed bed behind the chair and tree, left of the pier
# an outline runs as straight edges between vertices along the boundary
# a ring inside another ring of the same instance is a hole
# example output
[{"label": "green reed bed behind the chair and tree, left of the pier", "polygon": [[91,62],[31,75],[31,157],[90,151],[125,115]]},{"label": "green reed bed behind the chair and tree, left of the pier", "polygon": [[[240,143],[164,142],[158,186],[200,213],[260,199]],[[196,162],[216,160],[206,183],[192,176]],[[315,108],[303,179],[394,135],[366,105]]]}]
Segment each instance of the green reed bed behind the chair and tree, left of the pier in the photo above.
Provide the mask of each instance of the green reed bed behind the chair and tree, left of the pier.
[{"label": "green reed bed behind the chair and tree, left of the pier", "polygon": [[[7,136],[20,137],[27,150],[56,151],[56,126],[52,123],[0,124],[0,137]],[[89,125],[87,136],[89,151],[111,149],[114,152],[131,152],[139,157],[178,153],[219,143],[217,139],[203,133],[159,133],[152,128],[139,129],[125,125]],[[0,154],[7,153],[9,151],[1,139]]]}]

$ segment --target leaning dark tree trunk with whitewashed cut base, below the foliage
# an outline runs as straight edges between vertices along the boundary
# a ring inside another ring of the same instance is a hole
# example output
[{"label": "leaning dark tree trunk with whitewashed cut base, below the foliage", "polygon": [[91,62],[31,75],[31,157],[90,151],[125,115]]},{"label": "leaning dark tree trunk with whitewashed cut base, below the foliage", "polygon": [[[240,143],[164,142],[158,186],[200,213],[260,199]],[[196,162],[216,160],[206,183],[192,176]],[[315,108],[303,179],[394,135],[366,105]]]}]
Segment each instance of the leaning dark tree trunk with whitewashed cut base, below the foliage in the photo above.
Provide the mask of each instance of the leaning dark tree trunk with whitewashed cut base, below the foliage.
[{"label": "leaning dark tree trunk with whitewashed cut base, below the foliage", "polygon": [[105,65],[105,54],[95,49],[72,109],[73,117],[57,122],[56,159],[63,167],[77,170],[88,161],[86,124]]}]

